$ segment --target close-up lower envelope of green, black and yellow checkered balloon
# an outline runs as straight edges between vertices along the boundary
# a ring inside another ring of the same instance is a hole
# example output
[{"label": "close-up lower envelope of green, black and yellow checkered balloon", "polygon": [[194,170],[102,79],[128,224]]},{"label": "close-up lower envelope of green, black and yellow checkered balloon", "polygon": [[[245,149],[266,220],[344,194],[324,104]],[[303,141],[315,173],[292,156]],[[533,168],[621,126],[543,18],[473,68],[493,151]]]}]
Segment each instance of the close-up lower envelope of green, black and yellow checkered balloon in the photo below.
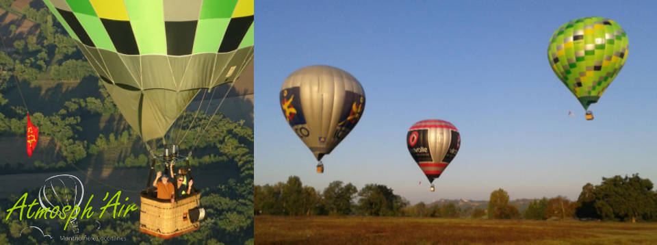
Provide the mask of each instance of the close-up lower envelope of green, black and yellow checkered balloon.
[{"label": "close-up lower envelope of green, black and yellow checkered balloon", "polygon": [[253,0],[44,0],[142,140],[253,59]]}]

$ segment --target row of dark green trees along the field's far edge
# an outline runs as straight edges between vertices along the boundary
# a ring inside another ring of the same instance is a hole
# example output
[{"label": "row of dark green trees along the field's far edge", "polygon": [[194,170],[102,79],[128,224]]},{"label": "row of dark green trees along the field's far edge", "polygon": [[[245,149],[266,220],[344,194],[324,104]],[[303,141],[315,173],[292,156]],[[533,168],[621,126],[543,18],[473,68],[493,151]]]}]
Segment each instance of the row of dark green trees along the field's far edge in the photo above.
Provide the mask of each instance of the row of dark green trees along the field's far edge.
[{"label": "row of dark green trees along the field's far edge", "polygon": [[324,190],[303,186],[299,177],[274,185],[255,185],[255,215],[283,216],[412,216],[442,218],[489,218],[528,220],[610,220],[657,221],[657,191],[649,179],[631,177],[602,178],[600,185],[587,183],[577,201],[565,196],[532,199],[521,210],[509,203],[508,192],[491,192],[487,209],[460,207],[454,203],[424,202],[409,205],[402,196],[381,184],[368,184],[358,190],[351,183],[333,181]]}]

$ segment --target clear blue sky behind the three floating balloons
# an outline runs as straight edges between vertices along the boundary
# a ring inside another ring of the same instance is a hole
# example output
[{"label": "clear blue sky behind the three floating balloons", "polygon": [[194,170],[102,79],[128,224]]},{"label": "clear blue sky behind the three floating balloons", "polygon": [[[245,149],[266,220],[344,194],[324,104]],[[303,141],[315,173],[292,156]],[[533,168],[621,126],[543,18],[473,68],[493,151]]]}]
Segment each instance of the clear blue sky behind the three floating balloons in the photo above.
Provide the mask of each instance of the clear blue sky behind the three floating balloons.
[{"label": "clear blue sky behind the three floating balloons", "polygon": [[[576,199],[587,182],[637,172],[657,183],[655,9],[656,1],[258,1],[255,183],[381,183],[411,203],[487,200],[497,188],[512,199]],[[613,19],[630,43],[625,67],[590,107],[593,121],[547,58],[552,33],[587,16]],[[279,106],[285,77],[313,64],[347,70],[368,99],[322,175]],[[461,132],[436,192],[405,143],[426,118]]]}]

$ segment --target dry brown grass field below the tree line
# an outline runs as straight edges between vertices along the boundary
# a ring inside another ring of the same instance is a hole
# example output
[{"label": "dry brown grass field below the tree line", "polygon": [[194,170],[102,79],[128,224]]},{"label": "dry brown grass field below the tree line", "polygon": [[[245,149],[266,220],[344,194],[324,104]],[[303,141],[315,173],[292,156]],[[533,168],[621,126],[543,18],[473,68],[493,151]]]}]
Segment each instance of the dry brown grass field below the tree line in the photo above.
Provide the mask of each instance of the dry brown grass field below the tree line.
[{"label": "dry brown grass field below the tree line", "polygon": [[255,244],[657,244],[657,223],[255,216]]}]

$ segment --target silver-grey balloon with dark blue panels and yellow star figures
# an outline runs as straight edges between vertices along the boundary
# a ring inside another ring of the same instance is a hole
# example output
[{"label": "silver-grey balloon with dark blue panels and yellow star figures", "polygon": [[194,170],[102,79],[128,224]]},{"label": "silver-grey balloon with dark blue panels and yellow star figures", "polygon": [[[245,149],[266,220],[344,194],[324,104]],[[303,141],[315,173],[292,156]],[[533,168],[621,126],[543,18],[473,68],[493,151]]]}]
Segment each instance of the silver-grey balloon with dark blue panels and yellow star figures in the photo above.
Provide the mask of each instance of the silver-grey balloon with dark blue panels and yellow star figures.
[{"label": "silver-grey balloon with dark blue panels and yellow star figures", "polygon": [[283,82],[283,116],[294,133],[321,160],[354,129],[363,116],[365,91],[351,74],[332,66],[300,68]]}]

